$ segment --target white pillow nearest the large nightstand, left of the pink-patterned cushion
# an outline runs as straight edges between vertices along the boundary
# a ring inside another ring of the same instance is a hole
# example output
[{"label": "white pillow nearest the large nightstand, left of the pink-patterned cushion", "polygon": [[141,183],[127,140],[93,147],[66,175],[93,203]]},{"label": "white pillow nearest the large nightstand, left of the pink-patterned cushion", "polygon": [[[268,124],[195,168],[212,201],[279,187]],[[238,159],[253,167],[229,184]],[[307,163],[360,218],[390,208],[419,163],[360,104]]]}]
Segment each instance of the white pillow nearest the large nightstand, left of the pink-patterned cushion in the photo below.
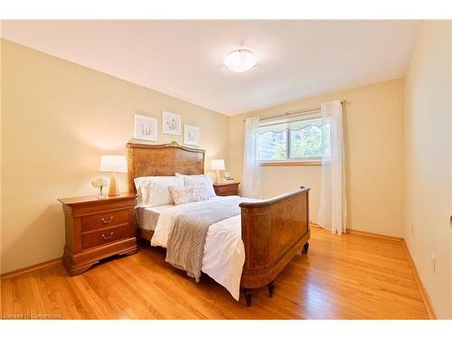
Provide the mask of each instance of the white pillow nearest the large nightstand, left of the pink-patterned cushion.
[{"label": "white pillow nearest the large nightstand, left of the pink-patterned cushion", "polygon": [[160,206],[174,203],[168,187],[184,185],[184,178],[177,176],[146,176],[142,180],[138,180],[138,184],[141,192],[141,203],[148,206]]}]

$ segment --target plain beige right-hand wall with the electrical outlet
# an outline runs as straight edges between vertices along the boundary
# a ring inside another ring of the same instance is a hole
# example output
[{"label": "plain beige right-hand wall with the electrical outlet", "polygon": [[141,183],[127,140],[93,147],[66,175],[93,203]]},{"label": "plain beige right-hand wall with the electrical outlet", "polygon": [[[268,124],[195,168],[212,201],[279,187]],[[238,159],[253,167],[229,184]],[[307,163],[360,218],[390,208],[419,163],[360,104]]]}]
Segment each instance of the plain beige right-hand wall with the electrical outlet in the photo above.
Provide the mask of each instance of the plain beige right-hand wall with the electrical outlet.
[{"label": "plain beige right-hand wall with the electrical outlet", "polygon": [[451,29],[422,25],[405,81],[404,237],[440,318],[452,318]]}]

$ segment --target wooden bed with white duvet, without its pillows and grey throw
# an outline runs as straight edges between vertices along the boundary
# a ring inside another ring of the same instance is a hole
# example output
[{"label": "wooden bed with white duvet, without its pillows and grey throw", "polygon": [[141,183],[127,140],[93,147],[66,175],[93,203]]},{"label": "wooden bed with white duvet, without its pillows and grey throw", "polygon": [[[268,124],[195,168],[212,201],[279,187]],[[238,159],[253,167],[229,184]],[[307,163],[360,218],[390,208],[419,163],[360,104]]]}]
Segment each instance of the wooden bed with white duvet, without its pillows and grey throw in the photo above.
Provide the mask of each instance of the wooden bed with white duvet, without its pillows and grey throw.
[{"label": "wooden bed with white duvet, without its pillows and grey throw", "polygon": [[[175,142],[127,144],[129,192],[136,193],[134,180],[137,177],[204,174],[204,154],[202,149]],[[239,299],[241,287],[247,306],[250,306],[254,289],[267,286],[268,295],[272,297],[279,272],[297,254],[307,252],[310,237],[308,193],[309,188],[301,187],[295,192],[261,201],[230,196],[189,202],[185,206],[140,206],[137,235],[151,241],[153,246],[165,247],[165,237],[171,232],[175,216],[188,211],[212,210],[217,206],[220,209],[228,203],[237,204],[240,208],[237,215],[210,226],[202,272],[226,287],[236,299]]]}]

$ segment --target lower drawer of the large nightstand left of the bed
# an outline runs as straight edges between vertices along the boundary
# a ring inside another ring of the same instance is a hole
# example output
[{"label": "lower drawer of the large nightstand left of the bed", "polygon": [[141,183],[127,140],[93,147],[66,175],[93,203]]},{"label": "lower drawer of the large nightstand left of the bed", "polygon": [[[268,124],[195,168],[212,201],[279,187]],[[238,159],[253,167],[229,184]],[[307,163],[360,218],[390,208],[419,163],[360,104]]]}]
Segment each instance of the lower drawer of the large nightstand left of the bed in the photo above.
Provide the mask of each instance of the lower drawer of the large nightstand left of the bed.
[{"label": "lower drawer of the large nightstand left of the bed", "polygon": [[81,248],[82,250],[88,250],[109,242],[132,238],[135,236],[134,233],[135,230],[130,224],[84,233],[81,234]]}]

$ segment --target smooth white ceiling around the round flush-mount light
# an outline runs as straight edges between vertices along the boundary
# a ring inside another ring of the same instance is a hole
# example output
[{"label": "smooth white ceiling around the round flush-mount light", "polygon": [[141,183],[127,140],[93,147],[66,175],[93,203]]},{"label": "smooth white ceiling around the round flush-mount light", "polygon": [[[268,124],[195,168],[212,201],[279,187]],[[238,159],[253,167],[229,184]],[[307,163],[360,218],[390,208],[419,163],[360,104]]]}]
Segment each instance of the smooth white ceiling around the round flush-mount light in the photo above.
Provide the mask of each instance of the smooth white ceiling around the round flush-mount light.
[{"label": "smooth white ceiling around the round flush-mount light", "polygon": [[[13,42],[233,115],[404,76],[419,21],[3,21]],[[233,73],[227,52],[256,67]]]}]

